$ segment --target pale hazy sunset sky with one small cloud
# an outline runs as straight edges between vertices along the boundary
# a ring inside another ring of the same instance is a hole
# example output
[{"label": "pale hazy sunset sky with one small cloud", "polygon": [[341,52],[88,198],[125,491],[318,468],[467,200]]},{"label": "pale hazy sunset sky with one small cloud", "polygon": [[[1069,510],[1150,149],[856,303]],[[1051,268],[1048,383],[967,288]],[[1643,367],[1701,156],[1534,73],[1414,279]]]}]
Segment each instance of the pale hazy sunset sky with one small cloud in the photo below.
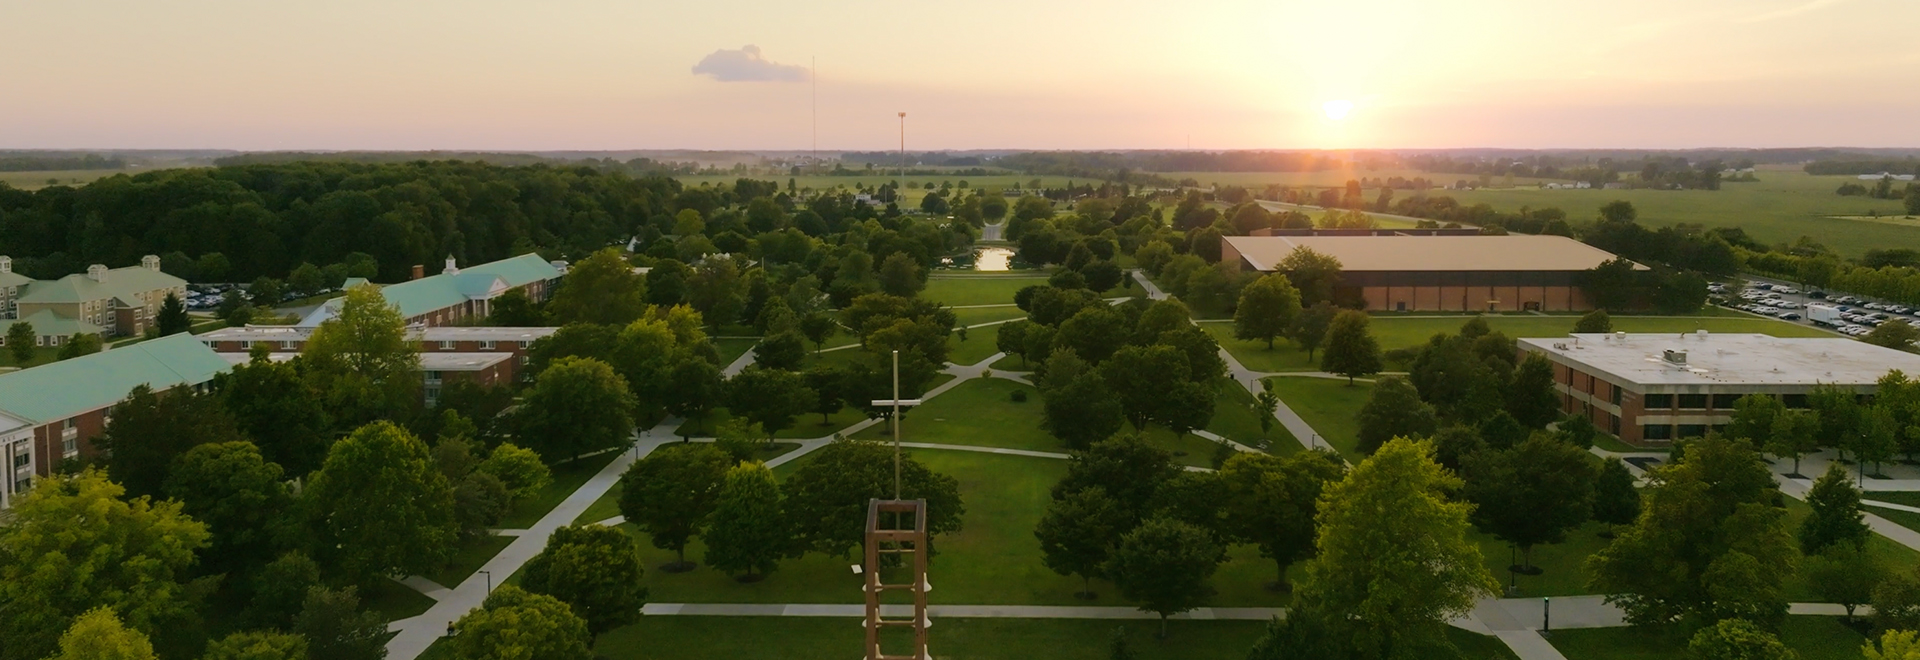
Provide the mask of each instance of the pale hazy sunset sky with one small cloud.
[{"label": "pale hazy sunset sky with one small cloud", "polygon": [[900,111],[908,150],[1912,148],[1912,25],[1914,0],[12,0],[0,148],[893,150]]}]

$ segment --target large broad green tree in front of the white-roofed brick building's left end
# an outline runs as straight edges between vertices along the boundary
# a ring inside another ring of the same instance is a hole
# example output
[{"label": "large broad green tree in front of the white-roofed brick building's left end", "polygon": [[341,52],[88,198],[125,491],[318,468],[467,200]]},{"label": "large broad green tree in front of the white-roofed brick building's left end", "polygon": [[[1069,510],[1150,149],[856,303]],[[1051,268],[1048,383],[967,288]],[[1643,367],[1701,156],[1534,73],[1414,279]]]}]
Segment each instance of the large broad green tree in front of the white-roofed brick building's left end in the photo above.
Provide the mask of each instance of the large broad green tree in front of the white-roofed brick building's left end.
[{"label": "large broad green tree in front of the white-roofed brick building's left end", "polygon": [[1741,618],[1786,616],[1780,581],[1797,551],[1774,478],[1751,447],[1697,439],[1647,480],[1634,526],[1588,558],[1590,587],[1644,625],[1705,625],[1736,602],[1749,608]]}]

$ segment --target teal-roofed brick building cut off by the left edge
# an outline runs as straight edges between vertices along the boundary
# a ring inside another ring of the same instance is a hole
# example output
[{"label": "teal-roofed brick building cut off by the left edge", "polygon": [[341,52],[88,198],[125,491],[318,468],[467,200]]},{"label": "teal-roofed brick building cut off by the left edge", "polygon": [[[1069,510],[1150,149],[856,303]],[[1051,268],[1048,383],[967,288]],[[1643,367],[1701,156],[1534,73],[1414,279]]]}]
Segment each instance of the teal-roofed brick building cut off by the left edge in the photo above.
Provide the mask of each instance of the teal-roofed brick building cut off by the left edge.
[{"label": "teal-roofed brick building cut off by the left edge", "polygon": [[[113,407],[132,388],[204,388],[227,361],[175,334],[35,368],[0,374],[0,453],[8,459],[6,501],[48,476],[60,460],[96,457]],[[21,453],[25,441],[25,453]]]}]

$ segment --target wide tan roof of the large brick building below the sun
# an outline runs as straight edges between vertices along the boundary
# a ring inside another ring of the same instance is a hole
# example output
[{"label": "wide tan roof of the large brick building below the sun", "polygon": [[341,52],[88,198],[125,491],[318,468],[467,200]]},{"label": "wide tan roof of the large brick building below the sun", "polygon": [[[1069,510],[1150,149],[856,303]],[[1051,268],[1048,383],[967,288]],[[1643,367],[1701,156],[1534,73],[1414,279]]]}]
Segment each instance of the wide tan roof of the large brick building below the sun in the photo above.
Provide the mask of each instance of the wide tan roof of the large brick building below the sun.
[{"label": "wide tan roof of the large brick building below the sun", "polygon": [[1225,236],[1258,271],[1298,248],[1340,259],[1342,271],[1588,271],[1613,253],[1567,236]]}]

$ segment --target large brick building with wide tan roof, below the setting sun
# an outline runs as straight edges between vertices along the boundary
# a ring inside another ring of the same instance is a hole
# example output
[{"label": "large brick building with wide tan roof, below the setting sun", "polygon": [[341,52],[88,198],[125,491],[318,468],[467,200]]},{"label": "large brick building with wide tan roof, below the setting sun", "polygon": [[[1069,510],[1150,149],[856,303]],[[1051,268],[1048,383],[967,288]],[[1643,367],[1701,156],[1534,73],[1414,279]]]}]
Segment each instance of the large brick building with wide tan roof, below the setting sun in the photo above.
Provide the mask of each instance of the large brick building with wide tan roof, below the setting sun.
[{"label": "large brick building with wide tan roof, below the setting sun", "polygon": [[1221,263],[1273,272],[1302,248],[1373,311],[1588,311],[1580,274],[1615,259],[1567,236],[1315,234],[1225,236]]}]

